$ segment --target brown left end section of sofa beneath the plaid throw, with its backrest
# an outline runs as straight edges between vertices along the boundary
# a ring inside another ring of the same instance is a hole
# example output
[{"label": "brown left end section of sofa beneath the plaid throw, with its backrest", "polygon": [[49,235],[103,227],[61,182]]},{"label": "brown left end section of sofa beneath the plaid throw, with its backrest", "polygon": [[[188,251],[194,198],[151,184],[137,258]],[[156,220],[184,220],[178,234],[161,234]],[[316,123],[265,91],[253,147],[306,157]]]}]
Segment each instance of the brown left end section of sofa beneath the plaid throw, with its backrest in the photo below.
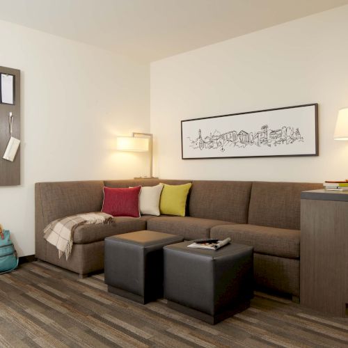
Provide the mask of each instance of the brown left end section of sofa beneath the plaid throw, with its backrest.
[{"label": "brown left end section of sofa beneath the plaid throw, with its backrest", "polygon": [[40,182],[35,184],[35,256],[84,276],[104,269],[104,238],[146,229],[146,216],[140,219],[117,217],[109,225],[79,226],[74,232],[68,260],[58,258],[55,246],[43,238],[50,222],[65,216],[100,212],[104,181]]}]

